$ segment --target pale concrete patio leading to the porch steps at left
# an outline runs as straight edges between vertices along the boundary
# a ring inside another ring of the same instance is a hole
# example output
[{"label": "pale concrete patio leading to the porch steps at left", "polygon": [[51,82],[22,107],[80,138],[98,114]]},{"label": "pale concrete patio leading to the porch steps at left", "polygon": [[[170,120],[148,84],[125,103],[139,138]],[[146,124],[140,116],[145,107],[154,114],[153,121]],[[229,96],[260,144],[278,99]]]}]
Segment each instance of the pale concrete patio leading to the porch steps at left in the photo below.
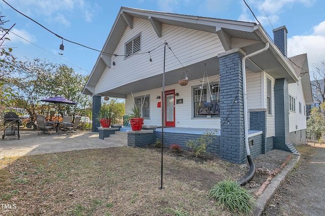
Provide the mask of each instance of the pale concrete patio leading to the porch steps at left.
[{"label": "pale concrete patio leading to the porch steps at left", "polygon": [[96,132],[76,131],[74,134],[38,135],[38,131],[20,131],[17,136],[5,136],[0,140],[0,159],[83,149],[99,149],[123,146],[99,138]]}]

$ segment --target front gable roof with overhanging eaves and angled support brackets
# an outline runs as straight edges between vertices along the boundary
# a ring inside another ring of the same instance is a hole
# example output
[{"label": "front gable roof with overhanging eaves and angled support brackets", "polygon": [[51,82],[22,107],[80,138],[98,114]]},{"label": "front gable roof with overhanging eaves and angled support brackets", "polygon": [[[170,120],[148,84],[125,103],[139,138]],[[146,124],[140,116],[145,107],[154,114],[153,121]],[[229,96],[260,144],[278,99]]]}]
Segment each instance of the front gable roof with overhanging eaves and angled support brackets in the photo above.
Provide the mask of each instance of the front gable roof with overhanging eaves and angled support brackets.
[{"label": "front gable roof with overhanging eaves and angled support brackets", "polygon": [[[246,54],[250,54],[264,48],[265,44],[269,42],[270,48],[261,54],[249,58],[246,61],[246,66],[256,72],[265,70],[275,79],[285,78],[289,83],[294,83],[299,80],[293,66],[287,62],[286,57],[282,55],[281,51],[276,47],[266,31],[259,24],[121,7],[112,30],[104,44],[102,53],[93,66],[83,90],[84,94],[118,97],[119,94],[117,92],[123,91],[125,95],[125,89],[128,89],[129,93],[132,91],[136,92],[136,90],[139,90],[135,89],[136,86],[142,86],[142,91],[149,90],[149,86],[145,85],[148,81],[137,81],[135,83],[126,84],[122,89],[112,89],[107,92],[96,92],[95,90],[95,86],[99,82],[103,71],[107,67],[111,67],[112,54],[114,54],[125,29],[127,27],[133,28],[134,18],[149,20],[157,37],[163,37],[163,24],[215,33],[218,35],[225,51],[241,48]],[[192,65],[192,71],[198,69],[194,66],[195,65]],[[202,70],[202,68],[200,69]],[[158,81],[158,79],[155,80],[157,80],[156,83],[150,80],[152,85],[156,87],[161,86],[161,82]],[[167,84],[171,83],[167,81]]]}]

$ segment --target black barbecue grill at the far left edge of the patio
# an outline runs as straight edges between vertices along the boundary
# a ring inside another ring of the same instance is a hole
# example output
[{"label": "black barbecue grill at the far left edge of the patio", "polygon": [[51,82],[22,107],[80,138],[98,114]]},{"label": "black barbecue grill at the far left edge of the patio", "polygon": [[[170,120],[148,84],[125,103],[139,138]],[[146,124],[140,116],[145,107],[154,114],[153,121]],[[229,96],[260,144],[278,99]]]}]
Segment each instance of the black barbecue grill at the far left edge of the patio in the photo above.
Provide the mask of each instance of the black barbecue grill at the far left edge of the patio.
[{"label": "black barbecue grill at the far left edge of the patio", "polygon": [[8,112],[6,113],[4,117],[4,135],[2,135],[2,138],[4,139],[5,136],[18,136],[18,139],[20,137],[19,135],[19,125],[21,120],[19,119],[18,115],[14,112]]}]

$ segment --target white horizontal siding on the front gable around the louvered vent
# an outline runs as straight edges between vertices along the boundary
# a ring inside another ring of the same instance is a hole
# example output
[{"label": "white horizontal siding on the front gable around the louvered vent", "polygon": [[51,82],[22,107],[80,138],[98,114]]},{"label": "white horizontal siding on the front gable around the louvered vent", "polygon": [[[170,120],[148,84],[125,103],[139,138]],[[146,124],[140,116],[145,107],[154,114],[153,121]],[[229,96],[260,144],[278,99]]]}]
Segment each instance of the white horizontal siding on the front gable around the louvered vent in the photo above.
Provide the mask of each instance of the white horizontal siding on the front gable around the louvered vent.
[{"label": "white horizontal siding on the front gable around the louvered vent", "polygon": [[[217,34],[163,24],[163,37],[158,38],[148,20],[135,18],[133,29],[128,27],[125,29],[115,53],[124,55],[125,42],[139,33],[141,33],[140,53],[145,54],[128,58],[117,56],[115,59],[112,56],[112,61],[114,59],[116,62],[116,69],[109,67],[105,69],[95,87],[95,92],[104,92],[126,83],[161,74],[164,46],[158,46],[162,45],[163,41],[167,41],[174,53],[178,53],[177,57],[184,66],[209,59],[224,51]],[[153,49],[155,50],[150,53],[153,64],[144,67],[143,65],[148,65],[149,61],[149,54],[146,52]],[[166,61],[168,61],[166,72],[181,67],[172,52],[166,52]]]}]

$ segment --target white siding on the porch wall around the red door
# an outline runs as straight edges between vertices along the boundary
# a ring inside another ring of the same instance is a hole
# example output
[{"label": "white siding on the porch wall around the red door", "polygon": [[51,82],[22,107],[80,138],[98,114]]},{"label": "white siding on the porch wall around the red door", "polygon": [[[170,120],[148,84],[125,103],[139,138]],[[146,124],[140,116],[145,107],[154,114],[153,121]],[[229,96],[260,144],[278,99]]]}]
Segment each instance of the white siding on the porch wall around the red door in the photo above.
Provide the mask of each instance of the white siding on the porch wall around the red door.
[{"label": "white siding on the porch wall around the red door", "polygon": [[[203,75],[202,75],[203,76]],[[211,80],[216,80],[217,76],[209,77]],[[188,127],[188,128],[220,128],[220,118],[192,118],[192,87],[198,87],[201,84],[200,81],[190,81],[186,86],[180,86],[179,84],[166,86],[165,91],[175,89],[175,92],[179,93],[179,96],[175,96],[175,122],[176,127]],[[211,83],[210,83],[211,85]],[[161,99],[156,97],[161,95],[161,88],[152,89],[147,92],[134,93],[134,97],[144,96],[150,94],[150,119],[145,119],[146,125],[161,126],[161,108],[157,107],[157,102]],[[177,99],[183,99],[182,104],[176,104]],[[125,100],[125,113],[129,112],[130,107],[133,106],[132,95],[127,95]]]}]

